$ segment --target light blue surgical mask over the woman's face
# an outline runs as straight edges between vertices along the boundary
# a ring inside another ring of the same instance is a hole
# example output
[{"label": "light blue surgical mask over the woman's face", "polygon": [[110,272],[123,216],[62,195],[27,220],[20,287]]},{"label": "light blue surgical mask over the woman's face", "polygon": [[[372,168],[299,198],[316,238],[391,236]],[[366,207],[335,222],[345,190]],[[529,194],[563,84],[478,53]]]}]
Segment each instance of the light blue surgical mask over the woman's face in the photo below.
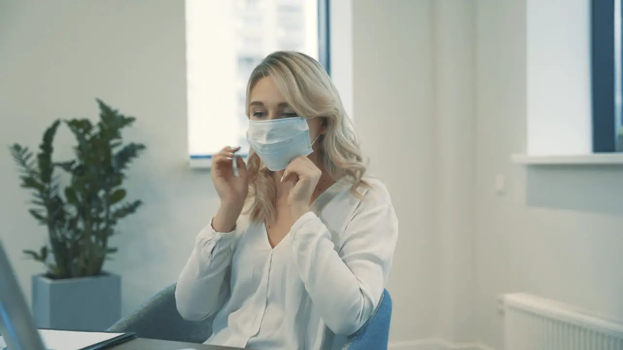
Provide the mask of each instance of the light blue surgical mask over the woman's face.
[{"label": "light blue surgical mask over the woman's face", "polygon": [[313,152],[307,120],[300,117],[250,120],[247,141],[270,171],[283,170],[292,159]]}]

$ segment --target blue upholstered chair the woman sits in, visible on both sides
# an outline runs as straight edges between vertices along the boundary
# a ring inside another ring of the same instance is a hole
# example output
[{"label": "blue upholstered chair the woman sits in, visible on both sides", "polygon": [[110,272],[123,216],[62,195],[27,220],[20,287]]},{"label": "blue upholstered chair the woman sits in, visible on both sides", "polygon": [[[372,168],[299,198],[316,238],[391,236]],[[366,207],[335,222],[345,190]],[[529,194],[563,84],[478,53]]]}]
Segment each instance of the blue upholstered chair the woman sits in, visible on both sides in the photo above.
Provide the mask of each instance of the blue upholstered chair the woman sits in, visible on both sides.
[{"label": "blue upholstered chair the woman sits in, visible on both sides", "polygon": [[[391,297],[383,291],[374,315],[351,336],[346,350],[387,350]],[[139,338],[204,343],[212,334],[212,318],[186,321],[175,305],[175,285],[159,291],[133,313],[107,329],[111,332],[134,332]]]}]

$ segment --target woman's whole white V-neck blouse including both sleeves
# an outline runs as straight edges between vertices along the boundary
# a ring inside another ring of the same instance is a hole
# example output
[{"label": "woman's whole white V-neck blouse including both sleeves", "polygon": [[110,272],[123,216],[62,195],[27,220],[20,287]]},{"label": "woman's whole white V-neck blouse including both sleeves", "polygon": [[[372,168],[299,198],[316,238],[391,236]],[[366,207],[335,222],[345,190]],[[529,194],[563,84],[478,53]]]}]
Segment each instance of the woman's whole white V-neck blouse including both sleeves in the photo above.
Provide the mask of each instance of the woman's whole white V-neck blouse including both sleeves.
[{"label": "woman's whole white V-neck blouse including both sleeves", "polygon": [[216,313],[206,344],[340,349],[373,314],[398,236],[387,188],[366,180],[363,201],[336,182],[275,248],[263,223],[229,233],[208,225],[179,275],[179,314]]}]

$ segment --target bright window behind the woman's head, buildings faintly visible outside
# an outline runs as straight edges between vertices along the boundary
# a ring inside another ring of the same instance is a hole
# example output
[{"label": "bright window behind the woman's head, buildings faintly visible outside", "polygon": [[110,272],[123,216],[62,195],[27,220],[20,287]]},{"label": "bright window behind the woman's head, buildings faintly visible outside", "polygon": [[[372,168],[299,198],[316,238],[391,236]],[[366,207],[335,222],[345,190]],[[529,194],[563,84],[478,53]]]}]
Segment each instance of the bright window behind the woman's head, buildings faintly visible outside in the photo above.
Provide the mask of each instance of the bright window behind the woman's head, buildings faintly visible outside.
[{"label": "bright window behind the woman's head, buildings faintly visible outside", "polygon": [[275,50],[305,52],[330,70],[328,0],[186,0],[188,151],[209,161],[246,153],[245,89]]}]

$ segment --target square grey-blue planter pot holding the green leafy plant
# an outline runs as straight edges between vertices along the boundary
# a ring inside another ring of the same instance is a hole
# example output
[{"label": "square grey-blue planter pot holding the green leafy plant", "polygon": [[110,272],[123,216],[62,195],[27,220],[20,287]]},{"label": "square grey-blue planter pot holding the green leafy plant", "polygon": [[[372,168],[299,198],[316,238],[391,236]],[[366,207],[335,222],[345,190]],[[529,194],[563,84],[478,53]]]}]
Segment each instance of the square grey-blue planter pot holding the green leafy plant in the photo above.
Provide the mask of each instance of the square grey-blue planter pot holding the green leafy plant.
[{"label": "square grey-blue planter pot holding the green leafy plant", "polygon": [[103,331],[121,318],[121,277],[33,276],[32,313],[39,328]]}]

